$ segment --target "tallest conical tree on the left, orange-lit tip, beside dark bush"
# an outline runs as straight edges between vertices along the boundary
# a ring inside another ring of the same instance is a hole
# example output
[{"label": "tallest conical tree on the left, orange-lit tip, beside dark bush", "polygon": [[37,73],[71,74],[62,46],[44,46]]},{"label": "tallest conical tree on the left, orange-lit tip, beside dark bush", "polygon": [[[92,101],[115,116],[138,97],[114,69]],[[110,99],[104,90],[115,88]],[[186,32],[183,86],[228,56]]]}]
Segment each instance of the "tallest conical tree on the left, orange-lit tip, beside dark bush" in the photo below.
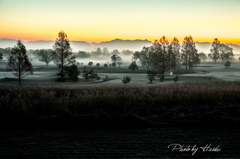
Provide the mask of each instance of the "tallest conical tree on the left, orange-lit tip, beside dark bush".
[{"label": "tallest conical tree on the left, orange-lit tip, beside dark bush", "polygon": [[69,64],[74,64],[76,62],[75,56],[72,55],[72,49],[70,47],[69,40],[67,39],[67,34],[63,31],[58,33],[58,38],[53,46],[53,56],[54,62],[59,68],[58,81],[65,81],[65,71],[64,66]]}]

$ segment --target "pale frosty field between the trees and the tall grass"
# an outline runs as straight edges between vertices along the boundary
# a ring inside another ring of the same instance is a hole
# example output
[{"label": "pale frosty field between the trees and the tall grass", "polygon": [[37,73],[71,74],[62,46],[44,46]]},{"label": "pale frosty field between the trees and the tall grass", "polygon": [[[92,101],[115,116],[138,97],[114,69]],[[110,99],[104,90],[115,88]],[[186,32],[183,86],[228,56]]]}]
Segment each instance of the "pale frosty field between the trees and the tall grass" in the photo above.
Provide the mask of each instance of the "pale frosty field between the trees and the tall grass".
[{"label": "pale frosty field between the trees and the tall grass", "polygon": [[[24,85],[82,85],[82,84],[122,84],[121,79],[124,76],[131,77],[130,85],[140,84],[148,85],[147,70],[140,67],[139,70],[132,72],[126,66],[121,68],[104,68],[104,67],[87,67],[87,69],[93,69],[101,77],[99,81],[86,81],[81,75],[78,82],[56,82],[57,68],[51,64],[45,66],[44,63],[33,64],[34,75],[29,75],[22,79]],[[82,67],[79,67],[82,72]],[[176,71],[173,76],[168,76],[168,72],[165,73],[165,82],[160,82],[160,79],[156,77],[153,85],[166,85],[172,84],[173,78],[176,76]],[[108,76],[108,79],[106,79]],[[194,68],[190,72],[184,70],[184,66],[179,70],[179,83],[184,82],[208,82],[208,81],[238,81],[240,79],[240,63],[232,63],[230,68],[225,68],[224,64],[218,62],[205,62]],[[12,85],[18,84],[16,77],[6,71],[6,61],[0,64],[0,85]]]}]

